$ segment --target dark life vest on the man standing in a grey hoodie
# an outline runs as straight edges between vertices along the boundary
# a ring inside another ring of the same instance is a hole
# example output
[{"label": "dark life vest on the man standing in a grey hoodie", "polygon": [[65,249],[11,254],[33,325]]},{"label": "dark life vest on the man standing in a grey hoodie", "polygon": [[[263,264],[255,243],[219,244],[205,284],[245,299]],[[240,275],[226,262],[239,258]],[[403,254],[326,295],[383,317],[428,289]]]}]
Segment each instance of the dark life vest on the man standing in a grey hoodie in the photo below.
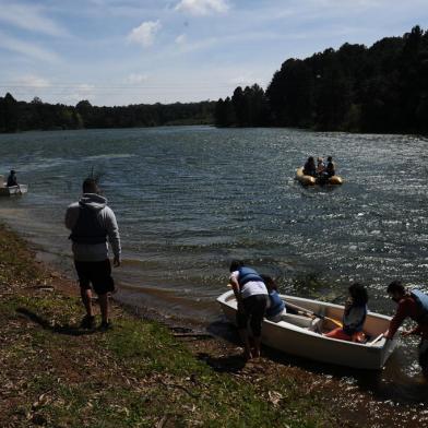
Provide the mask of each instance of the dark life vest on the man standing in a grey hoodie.
[{"label": "dark life vest on the man standing in a grey hoodie", "polygon": [[98,211],[79,205],[79,218],[69,237],[75,243],[107,242],[107,230],[98,219]]}]

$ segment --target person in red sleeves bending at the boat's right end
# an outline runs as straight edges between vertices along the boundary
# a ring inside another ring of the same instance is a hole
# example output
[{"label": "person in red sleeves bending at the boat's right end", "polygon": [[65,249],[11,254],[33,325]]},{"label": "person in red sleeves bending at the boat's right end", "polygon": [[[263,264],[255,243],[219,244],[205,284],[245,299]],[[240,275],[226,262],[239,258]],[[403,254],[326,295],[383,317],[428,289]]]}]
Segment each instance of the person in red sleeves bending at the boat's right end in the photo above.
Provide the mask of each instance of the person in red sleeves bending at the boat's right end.
[{"label": "person in red sleeves bending at the boat's right end", "polygon": [[417,325],[405,330],[402,335],[416,334],[421,337],[418,347],[419,366],[423,374],[428,379],[428,295],[418,289],[406,290],[401,281],[393,281],[388,286],[387,293],[399,306],[383,336],[392,340],[406,318],[416,321]]}]

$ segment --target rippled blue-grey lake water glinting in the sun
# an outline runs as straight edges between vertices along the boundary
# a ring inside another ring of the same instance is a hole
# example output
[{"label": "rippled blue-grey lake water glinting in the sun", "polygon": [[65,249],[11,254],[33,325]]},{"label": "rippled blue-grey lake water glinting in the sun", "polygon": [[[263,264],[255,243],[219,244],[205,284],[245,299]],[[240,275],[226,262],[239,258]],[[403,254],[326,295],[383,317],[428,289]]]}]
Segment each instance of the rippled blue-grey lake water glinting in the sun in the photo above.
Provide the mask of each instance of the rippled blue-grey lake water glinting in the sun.
[{"label": "rippled blue-grey lake water glinting in the sun", "polygon": [[[0,174],[16,169],[29,191],[1,199],[0,218],[74,275],[63,215],[94,170],[120,226],[126,302],[211,322],[239,258],[302,297],[343,302],[361,282],[370,309],[391,314],[390,281],[428,289],[427,148],[417,136],[293,129],[1,134]],[[332,155],[345,183],[301,187],[309,155]],[[399,353],[408,376],[415,353]]]}]

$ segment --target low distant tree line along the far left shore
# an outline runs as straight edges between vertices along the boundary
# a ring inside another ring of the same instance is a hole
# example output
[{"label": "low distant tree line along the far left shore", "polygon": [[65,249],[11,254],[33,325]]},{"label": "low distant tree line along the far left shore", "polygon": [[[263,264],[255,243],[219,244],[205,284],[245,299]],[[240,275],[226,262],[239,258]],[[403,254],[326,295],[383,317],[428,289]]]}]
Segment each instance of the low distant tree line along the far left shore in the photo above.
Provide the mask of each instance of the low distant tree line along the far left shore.
[{"label": "low distant tree line along the far left shore", "polygon": [[139,104],[97,107],[88,100],[76,106],[19,102],[10,93],[0,97],[0,132],[82,128],[133,128],[165,124],[209,124],[214,122],[215,102]]}]

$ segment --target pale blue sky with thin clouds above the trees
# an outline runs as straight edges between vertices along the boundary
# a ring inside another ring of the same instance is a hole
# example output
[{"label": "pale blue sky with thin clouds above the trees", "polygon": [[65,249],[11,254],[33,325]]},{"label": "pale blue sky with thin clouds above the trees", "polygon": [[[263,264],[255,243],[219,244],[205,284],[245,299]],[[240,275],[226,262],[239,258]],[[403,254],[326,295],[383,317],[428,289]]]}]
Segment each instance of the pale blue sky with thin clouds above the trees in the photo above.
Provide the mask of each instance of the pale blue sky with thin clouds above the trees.
[{"label": "pale blue sky with thin clouds above the trees", "polygon": [[0,96],[97,106],[225,98],[288,58],[370,47],[428,0],[0,0]]}]

